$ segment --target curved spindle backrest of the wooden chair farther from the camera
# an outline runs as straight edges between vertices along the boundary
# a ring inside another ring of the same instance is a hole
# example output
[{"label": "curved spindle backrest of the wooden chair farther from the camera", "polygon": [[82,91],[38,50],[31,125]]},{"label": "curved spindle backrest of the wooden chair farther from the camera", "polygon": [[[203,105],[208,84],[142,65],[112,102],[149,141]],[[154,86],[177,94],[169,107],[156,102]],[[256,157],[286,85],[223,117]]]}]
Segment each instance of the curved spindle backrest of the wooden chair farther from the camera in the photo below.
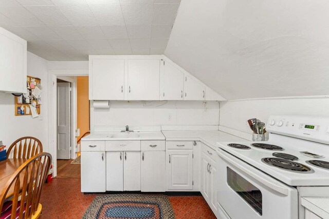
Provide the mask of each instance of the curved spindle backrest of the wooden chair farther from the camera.
[{"label": "curved spindle backrest of the wooden chair farther from the camera", "polygon": [[12,158],[30,158],[42,152],[42,144],[38,138],[21,137],[10,145],[7,150],[7,158],[11,151],[13,151]]}]

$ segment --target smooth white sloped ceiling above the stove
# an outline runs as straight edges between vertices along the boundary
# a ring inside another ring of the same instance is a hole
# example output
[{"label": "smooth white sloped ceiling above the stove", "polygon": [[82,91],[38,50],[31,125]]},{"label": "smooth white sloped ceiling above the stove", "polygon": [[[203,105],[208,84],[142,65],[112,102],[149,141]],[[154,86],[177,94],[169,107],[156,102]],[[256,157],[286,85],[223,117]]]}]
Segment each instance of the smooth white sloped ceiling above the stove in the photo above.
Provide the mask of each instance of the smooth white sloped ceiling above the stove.
[{"label": "smooth white sloped ceiling above the stove", "polygon": [[227,99],[329,94],[329,1],[182,0],[165,55]]}]

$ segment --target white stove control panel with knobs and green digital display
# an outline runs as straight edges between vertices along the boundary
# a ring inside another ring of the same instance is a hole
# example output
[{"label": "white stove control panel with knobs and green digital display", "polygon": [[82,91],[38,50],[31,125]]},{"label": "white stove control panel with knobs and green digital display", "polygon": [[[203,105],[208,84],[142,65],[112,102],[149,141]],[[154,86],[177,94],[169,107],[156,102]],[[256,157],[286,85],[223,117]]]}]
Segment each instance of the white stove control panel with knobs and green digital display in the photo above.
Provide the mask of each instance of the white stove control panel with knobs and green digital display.
[{"label": "white stove control panel with knobs and green digital display", "polygon": [[266,131],[329,145],[329,117],[273,115]]}]

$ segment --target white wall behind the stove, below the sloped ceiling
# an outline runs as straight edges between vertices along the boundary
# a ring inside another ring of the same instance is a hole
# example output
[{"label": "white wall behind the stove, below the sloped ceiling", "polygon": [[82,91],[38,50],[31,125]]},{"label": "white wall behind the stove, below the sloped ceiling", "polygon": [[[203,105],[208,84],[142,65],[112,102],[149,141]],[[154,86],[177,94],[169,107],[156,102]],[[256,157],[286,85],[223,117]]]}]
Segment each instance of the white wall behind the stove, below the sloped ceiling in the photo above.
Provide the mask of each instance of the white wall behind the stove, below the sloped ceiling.
[{"label": "white wall behind the stove, below the sloped ceiling", "polygon": [[258,118],[267,124],[269,115],[329,116],[329,98],[258,99],[222,102],[220,125],[251,133],[246,124]]}]

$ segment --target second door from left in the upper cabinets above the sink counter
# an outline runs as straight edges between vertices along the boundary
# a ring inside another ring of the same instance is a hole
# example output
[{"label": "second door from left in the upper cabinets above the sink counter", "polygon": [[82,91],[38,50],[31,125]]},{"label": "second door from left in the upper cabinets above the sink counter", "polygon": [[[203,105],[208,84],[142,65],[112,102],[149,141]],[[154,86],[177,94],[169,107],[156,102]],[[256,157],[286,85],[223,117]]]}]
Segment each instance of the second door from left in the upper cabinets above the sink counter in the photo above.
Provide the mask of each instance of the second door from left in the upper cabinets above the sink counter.
[{"label": "second door from left in the upper cabinets above the sink counter", "polygon": [[128,99],[155,101],[160,94],[160,60],[128,60]]}]

